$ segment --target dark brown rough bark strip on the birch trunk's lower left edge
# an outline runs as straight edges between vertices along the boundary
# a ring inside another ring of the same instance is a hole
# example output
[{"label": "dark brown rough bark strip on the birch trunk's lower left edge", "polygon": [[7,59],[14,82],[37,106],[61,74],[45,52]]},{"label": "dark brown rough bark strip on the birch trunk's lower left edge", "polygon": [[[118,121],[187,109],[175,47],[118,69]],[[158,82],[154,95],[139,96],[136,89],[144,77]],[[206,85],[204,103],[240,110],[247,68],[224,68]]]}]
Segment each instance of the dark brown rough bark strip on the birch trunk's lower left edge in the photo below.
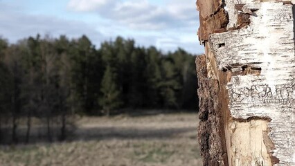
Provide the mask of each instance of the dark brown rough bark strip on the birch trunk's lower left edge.
[{"label": "dark brown rough bark strip on the birch trunk's lower left edge", "polygon": [[205,55],[196,59],[199,95],[199,145],[203,165],[227,165],[224,128],[222,125],[221,104],[218,100],[219,84],[208,78]]}]

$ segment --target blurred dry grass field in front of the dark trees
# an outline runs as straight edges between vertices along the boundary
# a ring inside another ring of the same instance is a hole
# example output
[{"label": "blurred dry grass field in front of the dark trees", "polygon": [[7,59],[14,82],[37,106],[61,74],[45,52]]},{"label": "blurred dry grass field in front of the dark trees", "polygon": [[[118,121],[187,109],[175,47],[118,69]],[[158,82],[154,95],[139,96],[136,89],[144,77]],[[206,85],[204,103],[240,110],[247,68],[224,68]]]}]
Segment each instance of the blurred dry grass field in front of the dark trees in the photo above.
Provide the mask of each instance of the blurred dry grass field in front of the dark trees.
[{"label": "blurred dry grass field in front of the dark trees", "polygon": [[202,165],[197,113],[81,118],[67,142],[0,147],[0,165]]}]

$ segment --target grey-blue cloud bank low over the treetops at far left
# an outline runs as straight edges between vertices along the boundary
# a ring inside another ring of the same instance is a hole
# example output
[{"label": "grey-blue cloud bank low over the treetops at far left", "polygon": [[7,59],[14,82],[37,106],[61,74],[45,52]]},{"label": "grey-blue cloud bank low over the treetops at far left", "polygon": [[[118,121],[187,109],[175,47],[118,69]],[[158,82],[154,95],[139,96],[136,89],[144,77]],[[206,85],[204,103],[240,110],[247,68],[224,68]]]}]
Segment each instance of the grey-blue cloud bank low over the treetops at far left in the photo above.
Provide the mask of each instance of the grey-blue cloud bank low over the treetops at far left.
[{"label": "grey-blue cloud bank low over the treetops at far left", "polygon": [[28,36],[51,35],[58,37],[80,37],[87,35],[92,42],[99,44],[106,39],[98,30],[80,21],[68,21],[57,17],[26,15],[21,12],[0,11],[0,32],[12,43]]}]

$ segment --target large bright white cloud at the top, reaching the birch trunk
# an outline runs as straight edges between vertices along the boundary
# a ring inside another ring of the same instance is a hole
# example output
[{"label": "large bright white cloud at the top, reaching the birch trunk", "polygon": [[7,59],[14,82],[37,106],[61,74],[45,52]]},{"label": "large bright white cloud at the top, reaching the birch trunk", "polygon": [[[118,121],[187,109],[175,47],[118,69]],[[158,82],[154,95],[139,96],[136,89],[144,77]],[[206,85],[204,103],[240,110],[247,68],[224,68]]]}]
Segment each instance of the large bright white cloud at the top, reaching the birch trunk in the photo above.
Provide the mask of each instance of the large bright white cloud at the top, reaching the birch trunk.
[{"label": "large bright white cloud at the top, reaching the birch trunk", "polygon": [[68,8],[75,11],[95,11],[105,19],[141,30],[193,26],[197,22],[195,0],[163,1],[165,6],[157,6],[147,0],[70,0]]}]

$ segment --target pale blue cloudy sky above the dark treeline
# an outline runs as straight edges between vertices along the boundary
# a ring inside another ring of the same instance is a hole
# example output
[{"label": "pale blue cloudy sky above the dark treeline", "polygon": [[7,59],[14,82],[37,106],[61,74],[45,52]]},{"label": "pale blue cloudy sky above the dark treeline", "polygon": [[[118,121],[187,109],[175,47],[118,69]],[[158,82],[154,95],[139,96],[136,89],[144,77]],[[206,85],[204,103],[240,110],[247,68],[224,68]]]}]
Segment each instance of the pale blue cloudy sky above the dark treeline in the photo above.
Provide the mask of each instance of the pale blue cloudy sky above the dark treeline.
[{"label": "pale blue cloudy sky above the dark treeline", "polygon": [[120,35],[140,46],[202,53],[196,0],[0,0],[0,36],[87,35],[96,46]]}]

